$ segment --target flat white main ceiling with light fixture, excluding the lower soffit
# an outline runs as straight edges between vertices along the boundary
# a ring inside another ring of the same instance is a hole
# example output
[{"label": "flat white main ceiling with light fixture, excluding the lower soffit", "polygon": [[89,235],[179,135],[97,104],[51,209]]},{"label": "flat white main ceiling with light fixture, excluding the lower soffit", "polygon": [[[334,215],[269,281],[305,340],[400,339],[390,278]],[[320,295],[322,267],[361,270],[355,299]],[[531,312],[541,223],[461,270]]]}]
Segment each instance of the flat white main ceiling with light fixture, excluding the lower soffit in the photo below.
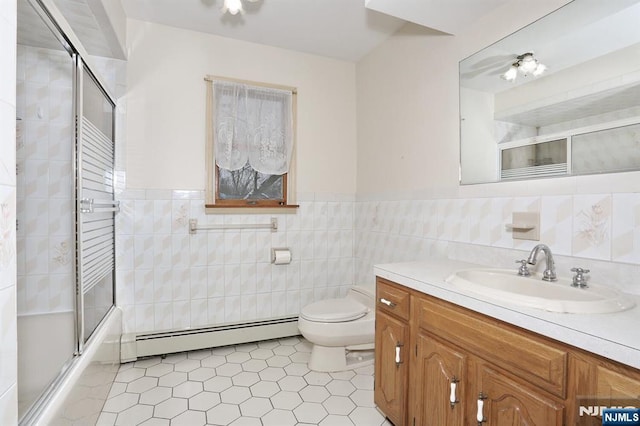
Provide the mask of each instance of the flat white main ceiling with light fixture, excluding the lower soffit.
[{"label": "flat white main ceiling with light fixture, excluding the lower soffit", "polygon": [[364,0],[244,1],[222,14],[222,0],[122,0],[129,18],[356,61],[405,21],[365,9]]}]

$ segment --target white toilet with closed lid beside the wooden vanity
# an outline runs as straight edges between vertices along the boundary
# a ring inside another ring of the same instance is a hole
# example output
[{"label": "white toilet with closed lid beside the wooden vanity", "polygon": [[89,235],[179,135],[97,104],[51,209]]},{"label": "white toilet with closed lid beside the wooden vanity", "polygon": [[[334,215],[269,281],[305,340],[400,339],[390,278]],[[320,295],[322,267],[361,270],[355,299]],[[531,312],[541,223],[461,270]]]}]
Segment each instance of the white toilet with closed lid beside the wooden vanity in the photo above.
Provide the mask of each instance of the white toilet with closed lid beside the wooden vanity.
[{"label": "white toilet with closed lid beside the wooden vanity", "polygon": [[342,299],[327,299],[302,308],[300,333],[313,344],[309,369],[342,371],[373,363],[375,294],[354,286]]}]

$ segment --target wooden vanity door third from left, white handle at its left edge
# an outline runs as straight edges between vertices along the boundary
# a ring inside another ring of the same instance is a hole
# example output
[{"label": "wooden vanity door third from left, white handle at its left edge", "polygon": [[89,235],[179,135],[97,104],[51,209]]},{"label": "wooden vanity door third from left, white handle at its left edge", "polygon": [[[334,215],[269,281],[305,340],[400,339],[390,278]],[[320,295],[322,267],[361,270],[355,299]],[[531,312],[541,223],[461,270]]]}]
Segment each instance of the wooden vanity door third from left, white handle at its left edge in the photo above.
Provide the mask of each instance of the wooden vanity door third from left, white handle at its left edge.
[{"label": "wooden vanity door third from left, white handle at its left edge", "polygon": [[483,425],[486,426],[562,426],[564,406],[551,398],[515,382],[482,361],[470,360],[475,384],[467,398],[467,416],[476,424],[478,400],[482,399]]}]

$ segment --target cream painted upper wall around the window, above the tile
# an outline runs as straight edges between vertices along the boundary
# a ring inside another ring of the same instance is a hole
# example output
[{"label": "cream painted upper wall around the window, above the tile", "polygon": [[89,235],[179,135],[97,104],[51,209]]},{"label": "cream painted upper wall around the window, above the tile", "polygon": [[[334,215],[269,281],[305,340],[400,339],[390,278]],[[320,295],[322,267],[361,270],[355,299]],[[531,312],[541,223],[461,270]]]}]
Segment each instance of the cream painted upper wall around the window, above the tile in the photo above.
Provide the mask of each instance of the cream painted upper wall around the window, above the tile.
[{"label": "cream painted upper wall around the window, above the tile", "polygon": [[355,193],[353,63],[135,20],[127,31],[128,188],[204,189],[209,74],[297,87],[297,190]]}]

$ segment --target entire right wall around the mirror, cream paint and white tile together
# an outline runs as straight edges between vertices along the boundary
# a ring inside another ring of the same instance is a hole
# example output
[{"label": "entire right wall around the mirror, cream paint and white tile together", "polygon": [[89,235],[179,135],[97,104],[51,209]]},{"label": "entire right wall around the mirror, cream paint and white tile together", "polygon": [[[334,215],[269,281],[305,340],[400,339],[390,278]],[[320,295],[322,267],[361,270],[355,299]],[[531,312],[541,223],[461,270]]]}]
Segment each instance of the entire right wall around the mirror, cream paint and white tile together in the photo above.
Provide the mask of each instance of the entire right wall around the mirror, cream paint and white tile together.
[{"label": "entire right wall around the mirror, cream paint and white tile together", "polygon": [[537,242],[505,224],[538,211],[559,274],[640,293],[640,173],[458,184],[458,62],[563,3],[513,1],[455,37],[406,25],[357,64],[356,280],[425,257],[513,267]]}]

